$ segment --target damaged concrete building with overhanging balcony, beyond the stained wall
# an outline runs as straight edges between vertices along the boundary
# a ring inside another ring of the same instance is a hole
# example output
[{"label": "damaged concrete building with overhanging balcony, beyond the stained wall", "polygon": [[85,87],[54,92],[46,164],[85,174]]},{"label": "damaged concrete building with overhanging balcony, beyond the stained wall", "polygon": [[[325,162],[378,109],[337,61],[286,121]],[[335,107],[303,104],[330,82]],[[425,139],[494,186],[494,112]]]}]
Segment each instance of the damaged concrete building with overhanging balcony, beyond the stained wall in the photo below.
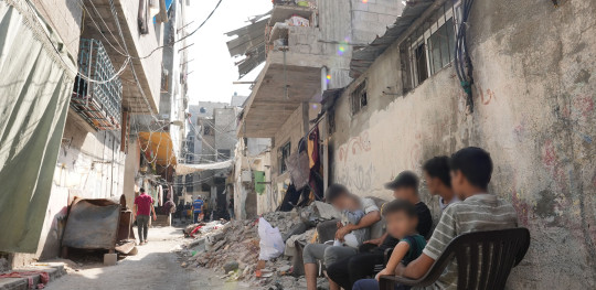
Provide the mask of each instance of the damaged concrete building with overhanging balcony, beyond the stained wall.
[{"label": "damaged concrete building with overhanging balcony, beyond the stained wall", "polygon": [[[350,84],[353,51],[381,34],[402,10],[398,1],[307,2],[305,7],[274,1],[270,18],[252,25],[255,29],[262,25],[265,28],[265,66],[253,86],[253,94],[245,103],[238,136],[272,139],[270,168],[267,169],[269,180],[266,186],[273,196],[263,201],[275,201],[276,204],[259,205],[259,208],[276,208],[288,189],[292,189],[290,185],[296,183],[287,163],[289,159],[299,159],[301,152],[311,152],[307,150],[307,140],[315,130],[319,133],[318,126],[311,121],[321,111],[323,92],[340,89]],[[252,26],[228,35],[238,34],[238,39],[244,40],[243,33],[253,35]],[[251,57],[254,57],[254,52],[260,51],[260,47],[245,49],[234,41],[228,42],[228,47],[232,55],[238,54],[238,51],[242,54],[244,49],[247,60],[253,60]],[[243,64],[240,69],[242,75]],[[319,143],[313,147],[319,148]],[[326,155],[321,155],[317,167],[324,168],[326,159]],[[311,168],[311,173],[304,167],[298,171],[302,175],[318,176],[318,185],[310,184],[310,187],[318,187],[313,198],[320,200],[327,174],[318,168]],[[301,182],[297,190],[304,189],[304,184]]]}]

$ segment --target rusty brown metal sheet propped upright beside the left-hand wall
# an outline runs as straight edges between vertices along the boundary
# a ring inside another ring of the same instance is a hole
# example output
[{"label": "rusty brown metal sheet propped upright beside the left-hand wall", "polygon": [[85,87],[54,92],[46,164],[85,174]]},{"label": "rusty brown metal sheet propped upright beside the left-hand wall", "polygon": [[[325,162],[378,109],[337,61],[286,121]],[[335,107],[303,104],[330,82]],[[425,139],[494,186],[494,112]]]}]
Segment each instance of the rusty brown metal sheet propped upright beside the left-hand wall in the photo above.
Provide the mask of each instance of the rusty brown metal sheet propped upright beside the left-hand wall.
[{"label": "rusty brown metal sheet propped upright beside the left-hand wall", "polygon": [[62,246],[114,249],[120,223],[120,203],[110,200],[76,200],[68,214]]}]

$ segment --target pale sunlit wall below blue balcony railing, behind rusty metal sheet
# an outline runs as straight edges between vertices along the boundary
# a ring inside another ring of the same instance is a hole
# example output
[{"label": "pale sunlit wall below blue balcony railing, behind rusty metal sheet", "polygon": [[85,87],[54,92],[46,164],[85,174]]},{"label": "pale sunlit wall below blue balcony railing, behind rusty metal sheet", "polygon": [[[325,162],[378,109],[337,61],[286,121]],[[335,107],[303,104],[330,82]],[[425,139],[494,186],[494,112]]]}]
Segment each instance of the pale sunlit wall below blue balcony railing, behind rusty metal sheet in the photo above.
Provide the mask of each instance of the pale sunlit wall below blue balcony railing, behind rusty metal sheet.
[{"label": "pale sunlit wall below blue balcony railing, behind rusty metal sheet", "polygon": [[38,257],[58,255],[67,206],[75,196],[104,198],[123,194],[126,154],[120,152],[119,132],[115,135],[95,132],[78,115],[68,112]]}]

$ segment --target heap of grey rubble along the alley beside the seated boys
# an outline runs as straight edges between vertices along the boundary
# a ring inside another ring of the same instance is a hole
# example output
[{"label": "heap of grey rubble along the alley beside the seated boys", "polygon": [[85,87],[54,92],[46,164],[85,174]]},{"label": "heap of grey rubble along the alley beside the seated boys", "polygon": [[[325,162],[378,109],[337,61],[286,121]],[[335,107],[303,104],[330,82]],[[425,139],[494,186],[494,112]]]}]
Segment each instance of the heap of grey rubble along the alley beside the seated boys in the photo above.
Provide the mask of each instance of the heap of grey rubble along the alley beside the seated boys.
[{"label": "heap of grey rubble along the alley beside the seated boys", "polygon": [[[273,212],[262,217],[277,227],[286,243],[284,255],[269,260],[259,260],[258,221],[212,222],[196,226],[195,239],[181,251],[184,268],[205,267],[222,272],[222,279],[242,280],[263,289],[306,288],[302,269],[294,269],[296,241],[312,243],[316,239],[315,226],[321,221],[338,216],[329,205],[316,203],[300,211]],[[324,212],[324,213],[323,213]],[[324,279],[321,279],[321,283]]]}]

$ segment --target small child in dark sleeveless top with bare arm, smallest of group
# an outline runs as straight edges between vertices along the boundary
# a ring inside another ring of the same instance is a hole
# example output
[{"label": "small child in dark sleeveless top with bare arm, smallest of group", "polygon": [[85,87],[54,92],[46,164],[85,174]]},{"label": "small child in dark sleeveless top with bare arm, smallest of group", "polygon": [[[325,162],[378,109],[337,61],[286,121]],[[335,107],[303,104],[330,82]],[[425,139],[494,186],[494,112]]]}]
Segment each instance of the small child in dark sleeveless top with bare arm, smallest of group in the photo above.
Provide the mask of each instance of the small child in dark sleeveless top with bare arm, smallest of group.
[{"label": "small child in dark sleeveless top with bare arm, smallest of group", "polygon": [[[393,237],[397,237],[400,243],[393,249],[387,265],[376,275],[375,279],[356,281],[353,287],[354,290],[379,289],[379,277],[394,276],[400,262],[404,265],[409,264],[421,256],[426,246],[424,237],[416,232],[418,215],[416,214],[416,207],[412,203],[404,200],[395,200],[385,204],[382,214],[386,221],[387,233]],[[402,286],[400,289],[408,288]]]}]

